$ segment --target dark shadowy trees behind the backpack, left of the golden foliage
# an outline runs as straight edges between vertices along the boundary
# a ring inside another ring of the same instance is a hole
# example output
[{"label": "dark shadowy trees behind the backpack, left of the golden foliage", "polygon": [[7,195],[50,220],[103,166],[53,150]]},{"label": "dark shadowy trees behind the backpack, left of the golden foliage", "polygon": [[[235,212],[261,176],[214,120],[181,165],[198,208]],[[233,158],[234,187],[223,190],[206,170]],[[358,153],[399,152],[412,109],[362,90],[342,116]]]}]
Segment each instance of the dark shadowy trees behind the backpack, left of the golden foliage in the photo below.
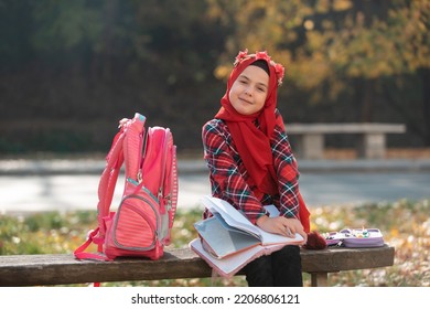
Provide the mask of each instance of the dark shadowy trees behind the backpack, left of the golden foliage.
[{"label": "dark shadowy trees behind the backpack, left of the golden foliage", "polygon": [[43,142],[54,131],[61,145],[72,131],[86,137],[63,151],[105,149],[108,124],[136,110],[174,129],[184,148],[200,147],[226,33],[206,9],[186,0],[0,0],[0,149],[57,151],[56,138]]}]

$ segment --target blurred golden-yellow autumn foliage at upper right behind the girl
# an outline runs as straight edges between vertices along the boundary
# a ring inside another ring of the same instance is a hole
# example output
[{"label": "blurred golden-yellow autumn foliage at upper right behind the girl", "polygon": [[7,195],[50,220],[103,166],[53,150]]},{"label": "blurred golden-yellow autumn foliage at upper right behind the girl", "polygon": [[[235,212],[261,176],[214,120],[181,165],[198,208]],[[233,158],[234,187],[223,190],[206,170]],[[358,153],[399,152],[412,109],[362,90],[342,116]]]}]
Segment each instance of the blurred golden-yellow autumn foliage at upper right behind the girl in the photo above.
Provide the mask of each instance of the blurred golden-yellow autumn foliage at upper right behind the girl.
[{"label": "blurred golden-yellow autumn foliage at upper right behind the girl", "polygon": [[[384,92],[401,120],[430,145],[429,125],[422,126],[430,116],[424,84],[430,68],[429,0],[209,3],[212,14],[236,26],[216,70],[218,77],[229,72],[227,60],[237,50],[269,50],[288,65],[291,83],[311,93],[311,104],[348,94],[361,106],[356,120],[374,121],[373,107]],[[422,75],[423,94],[423,113],[418,114],[409,108],[410,93],[401,95],[406,79],[417,74]]]}]

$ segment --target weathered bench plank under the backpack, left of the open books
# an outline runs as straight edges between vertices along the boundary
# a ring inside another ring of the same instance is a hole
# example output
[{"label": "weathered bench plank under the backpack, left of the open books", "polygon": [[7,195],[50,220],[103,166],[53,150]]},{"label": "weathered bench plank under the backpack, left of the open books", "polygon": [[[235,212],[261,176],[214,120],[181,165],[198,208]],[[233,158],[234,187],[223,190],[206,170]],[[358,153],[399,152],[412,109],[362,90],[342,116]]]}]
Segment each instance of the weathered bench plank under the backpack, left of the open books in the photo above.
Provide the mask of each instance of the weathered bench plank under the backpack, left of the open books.
[{"label": "weathered bench plank under the backpack, left of the open books", "polygon": [[94,281],[154,280],[211,276],[189,249],[166,252],[159,260],[117,258],[77,260],[73,255],[0,257],[0,286],[65,285]]}]

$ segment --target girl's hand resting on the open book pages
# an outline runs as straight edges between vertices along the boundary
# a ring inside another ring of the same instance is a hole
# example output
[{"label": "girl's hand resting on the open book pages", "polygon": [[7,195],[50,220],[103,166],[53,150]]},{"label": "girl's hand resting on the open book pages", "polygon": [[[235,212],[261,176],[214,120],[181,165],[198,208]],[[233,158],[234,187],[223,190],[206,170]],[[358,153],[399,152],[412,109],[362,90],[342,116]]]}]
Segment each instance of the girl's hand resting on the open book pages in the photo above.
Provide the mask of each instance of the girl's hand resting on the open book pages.
[{"label": "girl's hand resting on the open book pages", "polygon": [[295,233],[298,233],[303,237],[303,244],[308,241],[308,235],[304,232],[302,224],[297,219],[288,219],[284,216],[269,217],[262,215],[257,220],[257,226],[266,232],[280,234],[290,238],[293,238]]}]

